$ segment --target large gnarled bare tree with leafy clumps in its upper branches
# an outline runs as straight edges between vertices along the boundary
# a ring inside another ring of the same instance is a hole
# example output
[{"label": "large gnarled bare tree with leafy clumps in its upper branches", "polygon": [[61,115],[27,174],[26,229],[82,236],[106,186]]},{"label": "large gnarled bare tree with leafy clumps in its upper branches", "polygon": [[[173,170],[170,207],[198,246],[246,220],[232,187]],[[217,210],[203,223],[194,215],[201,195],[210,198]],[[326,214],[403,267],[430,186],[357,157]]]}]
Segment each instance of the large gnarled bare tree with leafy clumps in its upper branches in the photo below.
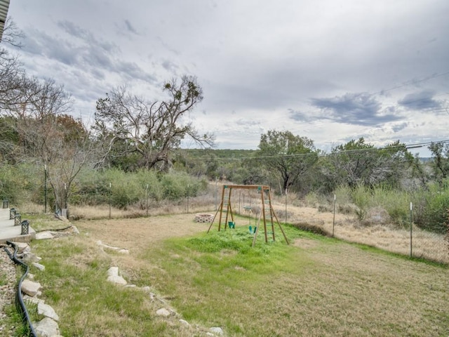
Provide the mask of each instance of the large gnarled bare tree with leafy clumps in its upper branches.
[{"label": "large gnarled bare tree with leafy clumps in its upper branches", "polygon": [[213,145],[213,135],[200,135],[184,117],[203,100],[202,90],[195,77],[184,76],[166,83],[163,90],[168,100],[149,102],[131,95],[124,86],[115,88],[106,98],[97,101],[94,129],[105,143],[105,164],[114,151],[114,145],[123,147],[116,155],[131,152],[140,154],[142,166],[151,169],[161,164],[168,169],[170,152],[180,146],[186,136],[200,145]]}]

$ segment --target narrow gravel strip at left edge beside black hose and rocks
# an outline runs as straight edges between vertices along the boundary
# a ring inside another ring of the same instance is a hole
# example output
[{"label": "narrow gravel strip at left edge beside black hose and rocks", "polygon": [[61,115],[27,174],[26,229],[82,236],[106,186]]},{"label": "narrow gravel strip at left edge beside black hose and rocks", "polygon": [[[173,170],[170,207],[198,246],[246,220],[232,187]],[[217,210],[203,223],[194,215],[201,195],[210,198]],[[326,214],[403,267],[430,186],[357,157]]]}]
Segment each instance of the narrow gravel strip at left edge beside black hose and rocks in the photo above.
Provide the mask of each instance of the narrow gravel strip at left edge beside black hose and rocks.
[{"label": "narrow gravel strip at left edge beside black hose and rocks", "polygon": [[5,307],[14,304],[16,272],[13,261],[3,247],[0,244],[0,336],[13,336],[14,331],[6,330]]}]

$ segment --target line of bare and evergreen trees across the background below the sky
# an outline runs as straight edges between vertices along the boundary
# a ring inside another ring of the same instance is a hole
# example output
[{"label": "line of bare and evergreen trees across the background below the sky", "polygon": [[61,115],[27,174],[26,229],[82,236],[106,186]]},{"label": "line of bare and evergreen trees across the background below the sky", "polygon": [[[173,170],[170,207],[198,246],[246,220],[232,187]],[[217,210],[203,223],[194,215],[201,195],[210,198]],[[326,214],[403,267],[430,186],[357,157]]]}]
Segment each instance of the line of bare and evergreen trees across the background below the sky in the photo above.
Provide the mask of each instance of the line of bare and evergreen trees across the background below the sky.
[{"label": "line of bare and evergreen trees across the background below the sky", "polygon": [[[6,37],[20,36],[15,29],[7,25]],[[170,79],[161,92],[163,100],[152,100],[126,86],[111,88],[98,98],[88,127],[72,116],[73,100],[64,86],[29,77],[18,56],[0,48],[0,163],[43,168],[57,208],[67,208],[83,170],[144,170],[159,177],[180,171],[208,180],[271,185],[279,194],[300,197],[341,186],[419,190],[448,183],[448,143],[431,143],[427,163],[399,140],[375,147],[359,138],[326,153],[307,137],[276,129],[260,136],[257,150],[215,150],[214,135],[201,134],[186,121],[203,100],[196,77]],[[182,149],[186,137],[198,148]]]}]

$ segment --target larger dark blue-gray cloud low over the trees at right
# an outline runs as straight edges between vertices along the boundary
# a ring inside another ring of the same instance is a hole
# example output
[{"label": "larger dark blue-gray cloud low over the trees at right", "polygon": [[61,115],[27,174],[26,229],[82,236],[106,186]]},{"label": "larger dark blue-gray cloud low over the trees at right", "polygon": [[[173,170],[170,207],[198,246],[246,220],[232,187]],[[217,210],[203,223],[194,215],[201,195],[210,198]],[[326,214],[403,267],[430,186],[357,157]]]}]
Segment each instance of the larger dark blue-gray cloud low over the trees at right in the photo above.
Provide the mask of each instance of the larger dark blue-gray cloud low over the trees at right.
[{"label": "larger dark blue-gray cloud low over the trees at right", "polygon": [[[400,119],[382,112],[382,105],[370,93],[346,93],[334,98],[312,98],[311,105],[326,111],[321,117],[339,123],[375,126]],[[293,116],[300,117],[298,114]]]}]

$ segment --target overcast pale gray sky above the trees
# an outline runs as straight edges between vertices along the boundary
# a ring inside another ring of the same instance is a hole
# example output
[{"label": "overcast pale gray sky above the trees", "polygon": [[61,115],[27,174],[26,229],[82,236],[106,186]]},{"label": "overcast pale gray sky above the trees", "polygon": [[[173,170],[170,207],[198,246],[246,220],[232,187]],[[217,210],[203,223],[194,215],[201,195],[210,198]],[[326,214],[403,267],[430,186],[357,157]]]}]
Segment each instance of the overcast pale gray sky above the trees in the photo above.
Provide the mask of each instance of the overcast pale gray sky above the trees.
[{"label": "overcast pale gray sky above the trees", "polygon": [[189,119],[217,148],[255,149],[276,129],[326,151],[449,139],[448,13],[448,0],[11,0],[8,12],[29,74],[63,84],[87,123],[111,88],[155,100],[192,74],[204,100]]}]

